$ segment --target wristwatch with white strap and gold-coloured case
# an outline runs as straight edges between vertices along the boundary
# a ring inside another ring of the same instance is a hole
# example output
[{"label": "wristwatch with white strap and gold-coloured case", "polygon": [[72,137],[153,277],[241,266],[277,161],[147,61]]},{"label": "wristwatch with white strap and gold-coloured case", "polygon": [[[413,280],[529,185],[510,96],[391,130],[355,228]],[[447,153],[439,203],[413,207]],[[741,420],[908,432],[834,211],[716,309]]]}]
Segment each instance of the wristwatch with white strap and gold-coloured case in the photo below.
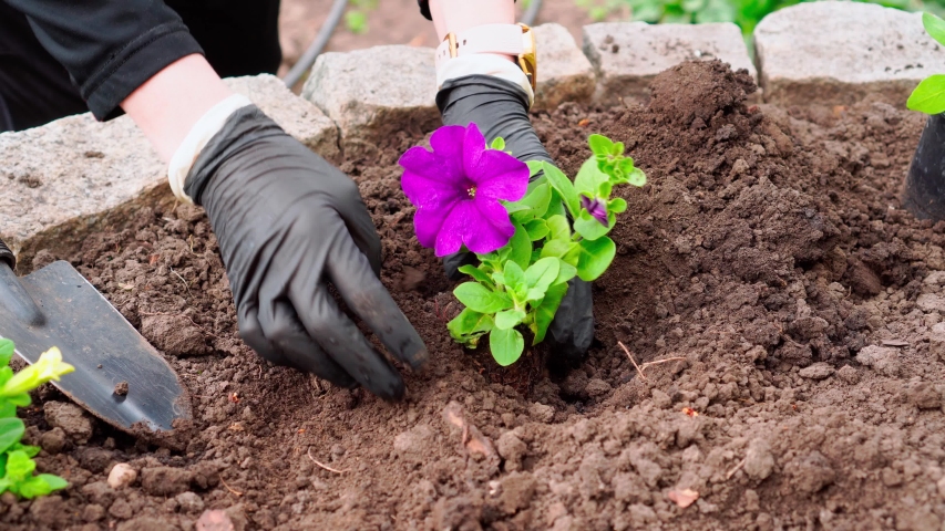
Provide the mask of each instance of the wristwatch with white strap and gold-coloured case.
[{"label": "wristwatch with white strap and gold-coloured case", "polygon": [[455,58],[477,53],[512,55],[528,77],[532,91],[537,84],[535,34],[525,24],[483,24],[459,33],[449,33],[436,48],[436,70]]}]

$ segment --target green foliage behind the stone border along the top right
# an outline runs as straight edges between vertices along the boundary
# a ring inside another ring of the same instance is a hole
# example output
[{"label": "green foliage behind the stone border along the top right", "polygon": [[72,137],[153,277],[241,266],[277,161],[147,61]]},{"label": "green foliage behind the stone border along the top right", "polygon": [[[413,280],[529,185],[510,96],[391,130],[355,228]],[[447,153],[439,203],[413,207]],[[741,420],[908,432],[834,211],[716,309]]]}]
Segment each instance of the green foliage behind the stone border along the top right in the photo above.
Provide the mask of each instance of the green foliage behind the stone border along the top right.
[{"label": "green foliage behind the stone border along the top right", "polygon": [[[650,23],[700,24],[735,22],[746,35],[766,15],[779,9],[819,0],[575,0],[595,20],[610,15],[628,17]],[[856,0],[906,11],[945,14],[945,1],[932,0]]]}]

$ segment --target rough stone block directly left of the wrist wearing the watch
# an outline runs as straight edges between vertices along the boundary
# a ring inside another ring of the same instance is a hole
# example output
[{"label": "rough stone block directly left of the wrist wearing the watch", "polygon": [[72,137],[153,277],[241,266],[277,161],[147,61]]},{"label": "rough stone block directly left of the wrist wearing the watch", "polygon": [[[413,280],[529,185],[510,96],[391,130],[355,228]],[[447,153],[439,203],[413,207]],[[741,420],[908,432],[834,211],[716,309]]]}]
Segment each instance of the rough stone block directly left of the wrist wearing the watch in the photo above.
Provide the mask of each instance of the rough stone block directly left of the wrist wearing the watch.
[{"label": "rough stone block directly left of the wrist wearing the watch", "polygon": [[335,121],[346,156],[377,150],[399,131],[440,125],[433,49],[374,46],[319,55],[302,97]]}]

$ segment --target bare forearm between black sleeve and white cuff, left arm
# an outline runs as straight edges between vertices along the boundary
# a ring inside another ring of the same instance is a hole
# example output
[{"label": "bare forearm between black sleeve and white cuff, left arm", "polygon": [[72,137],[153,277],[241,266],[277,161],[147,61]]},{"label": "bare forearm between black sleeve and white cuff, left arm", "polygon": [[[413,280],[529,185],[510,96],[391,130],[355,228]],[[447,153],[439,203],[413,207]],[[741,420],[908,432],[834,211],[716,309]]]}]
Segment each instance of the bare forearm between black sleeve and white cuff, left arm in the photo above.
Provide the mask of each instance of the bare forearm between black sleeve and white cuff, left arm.
[{"label": "bare forearm between black sleeve and white cuff, left arm", "polygon": [[161,158],[170,162],[194,124],[232,94],[206,59],[193,54],[171,63],[121,105]]}]

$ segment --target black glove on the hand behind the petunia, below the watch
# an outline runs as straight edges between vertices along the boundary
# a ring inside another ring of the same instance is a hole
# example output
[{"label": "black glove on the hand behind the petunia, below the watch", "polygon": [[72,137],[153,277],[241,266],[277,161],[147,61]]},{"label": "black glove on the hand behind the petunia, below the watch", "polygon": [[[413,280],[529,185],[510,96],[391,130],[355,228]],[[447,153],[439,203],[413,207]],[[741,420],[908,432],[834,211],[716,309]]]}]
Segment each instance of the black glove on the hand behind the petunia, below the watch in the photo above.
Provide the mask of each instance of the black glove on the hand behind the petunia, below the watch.
[{"label": "black glove on the hand behind the petunia, below the watch", "polygon": [[[553,163],[548,152],[528,119],[528,96],[522,87],[491,75],[469,75],[448,81],[436,94],[436,106],[445,125],[475,123],[487,143],[501,136],[505,149],[518,160],[546,160]],[[474,263],[471,252],[446,257],[446,274],[459,280],[458,268]],[[555,320],[548,327],[547,339],[553,352],[568,360],[579,360],[594,340],[594,312],[590,284],[575,278]]]}]

